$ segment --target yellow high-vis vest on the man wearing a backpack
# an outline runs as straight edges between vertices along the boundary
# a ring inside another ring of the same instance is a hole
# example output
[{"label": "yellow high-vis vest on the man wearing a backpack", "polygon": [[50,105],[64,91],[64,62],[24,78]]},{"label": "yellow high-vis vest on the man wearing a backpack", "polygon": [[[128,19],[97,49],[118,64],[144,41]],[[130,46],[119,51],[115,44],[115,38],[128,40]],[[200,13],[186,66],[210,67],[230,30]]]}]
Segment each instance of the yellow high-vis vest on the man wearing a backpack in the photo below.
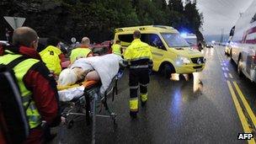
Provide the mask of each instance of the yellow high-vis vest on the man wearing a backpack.
[{"label": "yellow high-vis vest on the man wearing a backpack", "polygon": [[[0,64],[8,65],[8,63],[10,63],[11,61],[15,60],[20,56],[21,55],[13,54],[0,56]],[[27,60],[20,62],[17,66],[13,67],[13,72],[15,73],[15,77],[18,80],[18,85],[22,96],[24,108],[28,108],[26,110],[26,114],[28,116],[30,129],[40,125],[41,116],[38,112],[38,109],[36,109],[35,107],[35,102],[31,98],[32,93],[24,85],[23,78],[24,75],[29,71],[29,68],[35,65],[35,63],[37,62],[39,62],[39,60],[29,58]]]}]

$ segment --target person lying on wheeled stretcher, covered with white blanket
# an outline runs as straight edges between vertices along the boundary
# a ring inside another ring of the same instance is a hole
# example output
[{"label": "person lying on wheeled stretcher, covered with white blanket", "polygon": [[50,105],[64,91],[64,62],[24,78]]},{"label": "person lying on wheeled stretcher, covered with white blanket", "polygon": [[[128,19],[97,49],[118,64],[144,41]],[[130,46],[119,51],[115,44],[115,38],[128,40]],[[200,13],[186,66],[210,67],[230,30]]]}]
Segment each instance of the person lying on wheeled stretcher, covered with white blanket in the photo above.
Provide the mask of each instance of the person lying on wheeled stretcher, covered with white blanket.
[{"label": "person lying on wheeled stretcher, covered with white blanket", "polygon": [[70,86],[79,82],[100,80],[102,83],[100,93],[104,93],[117,74],[121,60],[122,58],[115,54],[77,59],[69,68],[61,72],[58,85]]}]

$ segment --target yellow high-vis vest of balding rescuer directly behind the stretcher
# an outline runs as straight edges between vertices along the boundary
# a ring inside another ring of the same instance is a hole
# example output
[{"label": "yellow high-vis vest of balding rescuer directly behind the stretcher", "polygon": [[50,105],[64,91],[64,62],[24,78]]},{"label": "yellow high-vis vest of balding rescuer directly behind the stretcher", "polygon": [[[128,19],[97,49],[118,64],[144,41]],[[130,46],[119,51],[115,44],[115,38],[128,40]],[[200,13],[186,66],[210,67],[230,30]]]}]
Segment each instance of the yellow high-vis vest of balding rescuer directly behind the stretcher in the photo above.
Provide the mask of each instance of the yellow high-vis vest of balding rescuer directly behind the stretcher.
[{"label": "yellow high-vis vest of balding rescuer directly behind the stretcher", "polygon": [[76,48],[71,51],[70,61],[76,61],[77,58],[87,57],[92,52],[89,48]]}]

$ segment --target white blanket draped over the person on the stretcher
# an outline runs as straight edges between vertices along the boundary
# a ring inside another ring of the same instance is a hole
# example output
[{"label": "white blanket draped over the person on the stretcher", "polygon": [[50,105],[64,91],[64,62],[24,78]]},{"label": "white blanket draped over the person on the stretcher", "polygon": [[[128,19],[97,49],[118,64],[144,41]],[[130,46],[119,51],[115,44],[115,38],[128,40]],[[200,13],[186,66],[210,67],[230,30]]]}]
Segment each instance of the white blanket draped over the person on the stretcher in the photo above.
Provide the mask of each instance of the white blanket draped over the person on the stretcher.
[{"label": "white blanket draped over the person on the stretcher", "polygon": [[[96,72],[99,73],[99,77],[102,83],[102,86],[99,90],[101,94],[104,94],[107,88],[109,88],[109,84],[112,79],[115,77],[119,70],[119,62],[122,60],[120,56],[115,54],[108,54],[104,56],[92,56],[87,58],[80,58],[77,61],[74,61],[73,65],[79,63],[79,65],[90,64]],[[83,66],[80,66],[83,67]]]}]

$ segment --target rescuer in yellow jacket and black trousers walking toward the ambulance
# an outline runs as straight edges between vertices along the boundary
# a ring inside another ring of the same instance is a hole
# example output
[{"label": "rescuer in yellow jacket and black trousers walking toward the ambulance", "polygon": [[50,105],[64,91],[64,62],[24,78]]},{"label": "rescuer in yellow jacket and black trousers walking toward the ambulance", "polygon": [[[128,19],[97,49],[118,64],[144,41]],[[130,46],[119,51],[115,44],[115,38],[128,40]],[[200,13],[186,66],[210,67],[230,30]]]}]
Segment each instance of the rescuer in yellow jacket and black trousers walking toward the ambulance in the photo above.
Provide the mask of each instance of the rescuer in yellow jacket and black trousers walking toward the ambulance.
[{"label": "rescuer in yellow jacket and black trousers walking toward the ambulance", "polygon": [[147,102],[147,85],[149,72],[152,70],[152,52],[150,46],[140,40],[141,32],[133,33],[134,40],[125,51],[123,66],[129,65],[130,115],[136,117],[138,112],[137,89],[140,88],[141,105]]}]

